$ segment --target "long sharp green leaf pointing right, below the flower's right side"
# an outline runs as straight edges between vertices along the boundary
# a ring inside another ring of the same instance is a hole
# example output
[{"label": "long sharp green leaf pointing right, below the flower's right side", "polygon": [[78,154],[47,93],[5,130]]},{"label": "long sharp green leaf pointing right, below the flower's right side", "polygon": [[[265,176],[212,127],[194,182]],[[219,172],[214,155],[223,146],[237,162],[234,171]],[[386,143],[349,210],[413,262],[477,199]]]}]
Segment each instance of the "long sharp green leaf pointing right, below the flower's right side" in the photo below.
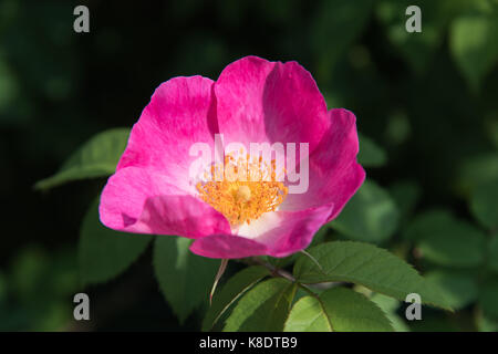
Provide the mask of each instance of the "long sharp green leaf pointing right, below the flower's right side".
[{"label": "long sharp green leaf pointing right, below the flower's right side", "polygon": [[326,242],[309,250],[320,263],[300,257],[294,277],[302,283],[345,281],[405,301],[409,293],[418,293],[422,302],[450,310],[433,287],[402,259],[375,246],[352,241]]}]

